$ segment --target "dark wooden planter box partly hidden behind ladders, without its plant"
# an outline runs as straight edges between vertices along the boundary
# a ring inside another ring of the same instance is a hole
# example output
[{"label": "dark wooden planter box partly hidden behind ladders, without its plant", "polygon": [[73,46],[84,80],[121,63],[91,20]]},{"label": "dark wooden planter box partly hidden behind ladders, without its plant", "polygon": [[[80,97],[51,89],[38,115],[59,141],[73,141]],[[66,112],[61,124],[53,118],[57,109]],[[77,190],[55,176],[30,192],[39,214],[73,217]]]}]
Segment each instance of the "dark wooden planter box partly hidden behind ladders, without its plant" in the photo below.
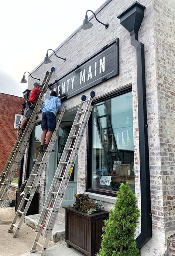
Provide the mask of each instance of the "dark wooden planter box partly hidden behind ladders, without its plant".
[{"label": "dark wooden planter box partly hidden behind ladders, without its plant", "polygon": [[[20,196],[20,194],[21,194],[21,192],[16,191],[15,212],[17,211],[17,209],[20,205],[20,202],[23,198],[23,195]],[[29,196],[30,195],[27,195],[27,198],[29,198]],[[39,201],[39,193],[35,193],[26,215],[32,215],[32,214],[37,214],[38,213],[38,201]],[[27,201],[25,201],[24,203],[25,203],[25,206],[26,206]],[[24,211],[24,205],[23,205],[21,211],[22,212]],[[21,213],[20,213],[20,215],[21,215]]]}]

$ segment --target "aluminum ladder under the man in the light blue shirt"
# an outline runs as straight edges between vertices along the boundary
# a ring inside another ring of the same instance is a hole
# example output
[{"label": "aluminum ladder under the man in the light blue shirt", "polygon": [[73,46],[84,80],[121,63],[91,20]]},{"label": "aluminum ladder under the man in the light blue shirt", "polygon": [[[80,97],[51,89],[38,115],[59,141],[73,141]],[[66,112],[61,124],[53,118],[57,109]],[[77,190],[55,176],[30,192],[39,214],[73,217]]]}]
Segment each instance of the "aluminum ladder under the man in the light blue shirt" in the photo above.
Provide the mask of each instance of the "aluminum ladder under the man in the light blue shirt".
[{"label": "aluminum ladder under the man in the light blue shirt", "polygon": [[[17,209],[17,212],[16,212],[16,215],[13,219],[13,222],[11,223],[10,229],[8,230],[8,233],[12,233],[13,227],[16,227],[16,231],[13,235],[13,238],[18,237],[20,227],[21,227],[21,225],[23,223],[23,220],[26,216],[26,213],[27,213],[28,208],[31,204],[31,201],[32,201],[32,199],[35,195],[35,192],[36,192],[37,187],[38,187],[38,183],[40,182],[40,179],[41,179],[41,175],[42,175],[42,173],[43,173],[43,171],[46,167],[49,156],[50,156],[50,154],[52,152],[52,149],[54,147],[54,144],[56,142],[56,139],[57,139],[56,133],[59,129],[59,125],[61,123],[61,120],[62,120],[62,117],[65,113],[65,110],[66,110],[66,106],[63,107],[62,112],[59,115],[58,122],[57,122],[55,130],[52,134],[52,137],[51,137],[51,140],[48,144],[46,152],[40,152],[39,153],[39,155],[37,157],[37,160],[34,164],[34,167],[31,171],[30,177],[27,181],[27,184],[25,185],[24,192],[23,192],[23,194],[24,194],[23,199],[21,200],[21,203],[20,203],[20,205]],[[29,198],[27,198],[28,194],[30,195]],[[26,206],[24,205],[25,201],[27,201]],[[21,209],[22,209],[23,205],[24,205],[24,210],[22,212]],[[18,225],[16,225],[15,223],[17,222],[18,216],[20,214],[22,215],[21,218],[20,218],[20,222],[18,223]]]}]

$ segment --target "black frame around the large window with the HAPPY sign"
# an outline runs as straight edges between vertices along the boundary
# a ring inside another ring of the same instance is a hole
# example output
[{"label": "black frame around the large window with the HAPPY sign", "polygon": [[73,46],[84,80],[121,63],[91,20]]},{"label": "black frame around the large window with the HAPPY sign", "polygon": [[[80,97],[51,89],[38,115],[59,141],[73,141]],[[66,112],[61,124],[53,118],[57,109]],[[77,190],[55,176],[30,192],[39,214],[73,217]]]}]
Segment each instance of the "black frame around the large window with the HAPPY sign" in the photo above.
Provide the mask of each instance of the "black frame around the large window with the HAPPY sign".
[{"label": "black frame around the large window with the HAPPY sign", "polygon": [[[126,88],[117,90],[116,92],[109,93],[105,96],[99,97],[92,101],[92,104],[100,103],[104,100],[109,100],[114,97],[120,96],[122,94],[132,92],[132,85],[130,84]],[[87,152],[87,182],[86,182],[86,191],[90,193],[96,193],[100,195],[113,196],[116,197],[116,191],[107,191],[103,189],[97,189],[92,187],[92,113],[90,114],[89,122],[88,122],[88,152]]]}]

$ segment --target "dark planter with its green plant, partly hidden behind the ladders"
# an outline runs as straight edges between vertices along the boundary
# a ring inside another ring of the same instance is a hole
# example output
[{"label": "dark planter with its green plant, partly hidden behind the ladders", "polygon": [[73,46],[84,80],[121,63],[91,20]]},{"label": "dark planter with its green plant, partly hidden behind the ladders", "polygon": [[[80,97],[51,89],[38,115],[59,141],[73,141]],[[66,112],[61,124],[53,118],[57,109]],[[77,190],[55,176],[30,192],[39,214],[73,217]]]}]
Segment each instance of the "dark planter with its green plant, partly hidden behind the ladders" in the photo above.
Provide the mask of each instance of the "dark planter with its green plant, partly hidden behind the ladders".
[{"label": "dark planter with its green plant, partly hidden behind the ladders", "polygon": [[[15,202],[15,212],[17,211],[19,205],[20,205],[20,202],[23,198],[23,191],[24,191],[24,188],[25,188],[25,185],[27,184],[27,180],[24,180],[24,182],[22,182],[21,186],[19,187],[19,189],[16,191],[16,202]],[[27,198],[29,198],[29,194],[27,195]],[[35,192],[35,195],[31,201],[31,204],[29,206],[29,209],[27,211],[27,214],[26,215],[32,215],[32,214],[37,214],[38,213],[38,200],[39,200],[39,193],[36,193]],[[27,204],[27,201],[24,202],[25,206]],[[23,212],[24,211],[24,205],[23,207],[21,208],[21,211]],[[19,215],[21,215],[21,213],[19,213]]]}]

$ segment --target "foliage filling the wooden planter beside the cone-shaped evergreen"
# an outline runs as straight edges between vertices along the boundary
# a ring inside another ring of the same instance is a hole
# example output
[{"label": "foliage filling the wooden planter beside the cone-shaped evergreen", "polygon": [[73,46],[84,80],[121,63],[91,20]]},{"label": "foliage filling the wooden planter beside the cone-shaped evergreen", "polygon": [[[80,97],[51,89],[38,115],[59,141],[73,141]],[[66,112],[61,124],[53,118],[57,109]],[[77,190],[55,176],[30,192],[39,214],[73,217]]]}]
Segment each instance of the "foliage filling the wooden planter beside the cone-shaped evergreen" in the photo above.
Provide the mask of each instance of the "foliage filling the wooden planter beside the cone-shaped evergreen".
[{"label": "foliage filling the wooden planter beside the cone-shaped evergreen", "polygon": [[91,215],[92,213],[99,212],[104,208],[101,202],[93,201],[87,194],[75,194],[75,197],[76,201],[71,207],[79,212]]}]

